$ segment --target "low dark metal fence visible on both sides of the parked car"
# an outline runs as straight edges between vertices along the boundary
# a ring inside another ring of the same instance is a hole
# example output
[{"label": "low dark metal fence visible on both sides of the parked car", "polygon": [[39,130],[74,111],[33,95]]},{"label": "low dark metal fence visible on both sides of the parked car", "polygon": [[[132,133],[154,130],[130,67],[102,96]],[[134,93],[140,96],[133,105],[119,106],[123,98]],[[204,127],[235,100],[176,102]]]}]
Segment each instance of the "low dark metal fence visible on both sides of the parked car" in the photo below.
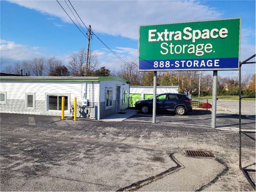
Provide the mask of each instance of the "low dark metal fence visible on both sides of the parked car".
[{"label": "low dark metal fence visible on both sides of the parked car", "polygon": [[[135,103],[143,99],[145,100],[145,99],[152,99],[152,98],[129,97],[129,107],[134,108]],[[192,107],[203,108],[208,110],[212,108],[212,105],[208,103],[208,99],[192,99]]]}]

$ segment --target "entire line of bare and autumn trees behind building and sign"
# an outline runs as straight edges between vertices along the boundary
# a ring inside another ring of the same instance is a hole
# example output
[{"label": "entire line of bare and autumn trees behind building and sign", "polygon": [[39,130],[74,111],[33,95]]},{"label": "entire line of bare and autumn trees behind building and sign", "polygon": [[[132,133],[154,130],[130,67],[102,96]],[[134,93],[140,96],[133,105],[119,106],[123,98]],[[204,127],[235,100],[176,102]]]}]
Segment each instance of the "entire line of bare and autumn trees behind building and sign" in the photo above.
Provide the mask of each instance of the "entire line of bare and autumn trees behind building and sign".
[{"label": "entire line of bare and autumn trees behind building and sign", "polygon": [[[54,57],[34,58],[29,61],[17,62],[8,65],[3,72],[9,74],[20,74],[28,76],[84,76],[87,53],[85,49],[70,55],[67,65]],[[120,69],[111,73],[106,67],[99,67],[99,62],[94,52],[89,53],[88,76],[119,76],[130,82],[131,85],[153,85],[153,72],[138,72],[136,62],[120,64]],[[180,93],[189,93],[198,96],[199,89],[198,71],[183,72],[158,72],[157,85],[178,86]],[[242,76],[242,94],[255,94],[255,74],[244,73]],[[218,76],[218,95],[239,95],[238,76]],[[201,72],[200,96],[212,95],[212,74]]]}]

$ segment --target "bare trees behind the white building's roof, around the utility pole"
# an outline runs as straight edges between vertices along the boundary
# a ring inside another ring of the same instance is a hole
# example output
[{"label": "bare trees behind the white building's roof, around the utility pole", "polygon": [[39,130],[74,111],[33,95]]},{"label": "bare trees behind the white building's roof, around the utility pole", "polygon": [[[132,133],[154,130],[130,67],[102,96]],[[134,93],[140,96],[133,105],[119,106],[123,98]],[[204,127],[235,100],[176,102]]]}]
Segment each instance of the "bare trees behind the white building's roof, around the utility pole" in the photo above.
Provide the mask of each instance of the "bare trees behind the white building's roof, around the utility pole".
[{"label": "bare trees behind the white building's roof, around the utility pole", "polygon": [[[48,59],[44,57],[34,58],[32,60],[16,62],[14,65],[7,65],[3,72],[19,75],[20,69],[22,69],[23,75],[27,76],[84,76],[86,56],[85,49],[73,53],[67,66],[63,64],[63,61],[55,57]],[[88,74],[89,76],[110,76],[111,71],[106,67],[99,67],[96,55],[90,52]]]}]

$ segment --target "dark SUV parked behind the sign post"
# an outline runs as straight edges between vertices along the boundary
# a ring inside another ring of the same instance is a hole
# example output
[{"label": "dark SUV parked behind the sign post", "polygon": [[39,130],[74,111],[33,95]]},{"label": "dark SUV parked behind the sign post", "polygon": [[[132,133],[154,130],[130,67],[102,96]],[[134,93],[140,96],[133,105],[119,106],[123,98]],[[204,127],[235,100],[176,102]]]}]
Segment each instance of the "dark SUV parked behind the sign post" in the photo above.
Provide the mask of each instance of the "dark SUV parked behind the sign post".
[{"label": "dark SUV parked behind the sign post", "polygon": [[[153,109],[153,99],[137,101],[135,108],[143,113],[148,113]],[[157,95],[157,111],[175,111],[177,115],[185,115],[192,111],[192,99],[186,94],[180,93]]]}]

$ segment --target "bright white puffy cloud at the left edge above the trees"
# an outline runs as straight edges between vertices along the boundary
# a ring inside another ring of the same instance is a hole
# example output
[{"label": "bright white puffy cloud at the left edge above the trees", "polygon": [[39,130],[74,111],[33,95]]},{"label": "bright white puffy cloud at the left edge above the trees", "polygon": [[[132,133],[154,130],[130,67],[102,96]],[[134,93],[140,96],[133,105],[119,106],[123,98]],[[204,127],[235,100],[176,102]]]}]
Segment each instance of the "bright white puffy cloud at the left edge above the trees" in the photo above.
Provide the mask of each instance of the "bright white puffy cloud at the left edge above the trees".
[{"label": "bright white puffy cloud at the left edge above the trees", "polygon": [[1,61],[22,61],[43,56],[43,54],[38,52],[38,49],[39,47],[29,47],[22,44],[16,44],[13,41],[0,40]]}]

